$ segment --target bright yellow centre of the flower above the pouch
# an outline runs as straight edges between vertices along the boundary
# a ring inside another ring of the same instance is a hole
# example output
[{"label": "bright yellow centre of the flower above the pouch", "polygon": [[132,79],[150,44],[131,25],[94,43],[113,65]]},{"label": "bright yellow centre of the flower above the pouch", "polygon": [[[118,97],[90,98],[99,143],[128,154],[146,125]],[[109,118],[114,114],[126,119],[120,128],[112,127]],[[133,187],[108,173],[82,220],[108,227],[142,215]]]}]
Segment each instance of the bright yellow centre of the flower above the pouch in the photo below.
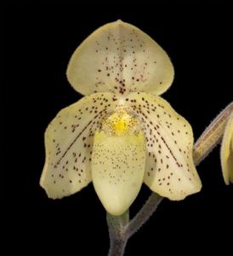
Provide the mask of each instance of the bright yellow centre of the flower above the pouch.
[{"label": "bright yellow centre of the flower above the pouch", "polygon": [[123,136],[137,132],[139,124],[137,119],[126,112],[117,112],[103,122],[103,131],[112,136]]}]

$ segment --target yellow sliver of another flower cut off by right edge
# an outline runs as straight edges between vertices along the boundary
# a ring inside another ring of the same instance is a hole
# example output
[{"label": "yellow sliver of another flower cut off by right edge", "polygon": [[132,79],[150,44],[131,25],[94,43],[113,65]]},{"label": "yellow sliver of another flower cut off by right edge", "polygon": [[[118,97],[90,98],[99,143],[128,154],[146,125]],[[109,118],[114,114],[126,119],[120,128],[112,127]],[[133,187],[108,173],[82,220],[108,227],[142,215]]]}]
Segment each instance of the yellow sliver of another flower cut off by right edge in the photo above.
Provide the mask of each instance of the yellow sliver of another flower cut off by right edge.
[{"label": "yellow sliver of another flower cut off by right edge", "polygon": [[224,183],[233,183],[233,113],[227,122],[220,151]]}]

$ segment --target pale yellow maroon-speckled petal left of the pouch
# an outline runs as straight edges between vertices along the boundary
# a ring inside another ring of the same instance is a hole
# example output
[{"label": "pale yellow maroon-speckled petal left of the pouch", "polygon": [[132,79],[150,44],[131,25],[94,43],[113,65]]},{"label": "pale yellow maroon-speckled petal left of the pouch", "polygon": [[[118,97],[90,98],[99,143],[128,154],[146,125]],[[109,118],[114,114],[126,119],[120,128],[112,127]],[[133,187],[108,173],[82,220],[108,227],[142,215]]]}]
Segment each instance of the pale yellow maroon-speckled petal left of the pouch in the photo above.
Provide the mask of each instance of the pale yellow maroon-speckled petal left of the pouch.
[{"label": "pale yellow maroon-speckled petal left of the pouch", "polygon": [[71,195],[91,181],[94,132],[115,109],[111,93],[86,96],[64,108],[45,132],[46,161],[40,184],[48,197]]}]

